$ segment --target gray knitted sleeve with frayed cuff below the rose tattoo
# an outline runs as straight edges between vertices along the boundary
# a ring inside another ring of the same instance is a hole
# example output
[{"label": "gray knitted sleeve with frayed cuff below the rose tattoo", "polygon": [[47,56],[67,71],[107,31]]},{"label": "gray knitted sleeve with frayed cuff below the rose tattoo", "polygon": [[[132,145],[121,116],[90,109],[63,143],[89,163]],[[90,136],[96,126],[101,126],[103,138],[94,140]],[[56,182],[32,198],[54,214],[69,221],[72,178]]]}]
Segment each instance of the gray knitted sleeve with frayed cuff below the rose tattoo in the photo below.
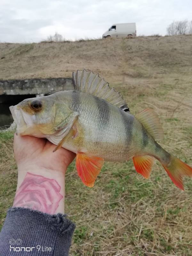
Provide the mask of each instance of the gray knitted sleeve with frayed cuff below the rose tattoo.
[{"label": "gray knitted sleeve with frayed cuff below the rose tattoo", "polygon": [[0,233],[0,255],[67,256],[74,229],[61,213],[10,208]]}]

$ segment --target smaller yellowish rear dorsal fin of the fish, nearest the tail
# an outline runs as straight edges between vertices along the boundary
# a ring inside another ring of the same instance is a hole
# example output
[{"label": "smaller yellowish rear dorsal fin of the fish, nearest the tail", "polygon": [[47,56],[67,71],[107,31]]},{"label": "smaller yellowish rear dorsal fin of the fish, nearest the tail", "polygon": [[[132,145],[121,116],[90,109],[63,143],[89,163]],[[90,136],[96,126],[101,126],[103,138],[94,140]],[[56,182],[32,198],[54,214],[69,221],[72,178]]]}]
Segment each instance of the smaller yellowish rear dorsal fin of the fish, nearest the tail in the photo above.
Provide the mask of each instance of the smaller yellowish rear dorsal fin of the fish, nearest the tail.
[{"label": "smaller yellowish rear dorsal fin of the fish, nearest the tail", "polygon": [[136,114],[135,117],[155,140],[163,139],[163,127],[159,117],[152,108],[142,110],[140,113]]}]

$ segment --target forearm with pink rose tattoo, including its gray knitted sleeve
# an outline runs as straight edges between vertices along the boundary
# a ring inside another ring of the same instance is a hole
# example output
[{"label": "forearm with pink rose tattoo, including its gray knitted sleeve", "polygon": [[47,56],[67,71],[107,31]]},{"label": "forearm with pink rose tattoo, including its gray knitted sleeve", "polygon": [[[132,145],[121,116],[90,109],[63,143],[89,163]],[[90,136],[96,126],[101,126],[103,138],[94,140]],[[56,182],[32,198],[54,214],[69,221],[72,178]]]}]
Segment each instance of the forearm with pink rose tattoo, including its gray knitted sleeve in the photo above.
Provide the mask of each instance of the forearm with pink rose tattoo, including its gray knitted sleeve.
[{"label": "forearm with pink rose tattoo, including its gray knitted sleeve", "polygon": [[39,256],[67,256],[75,224],[63,215],[64,199],[65,172],[18,166],[13,207],[0,233],[0,255],[30,250],[30,256],[37,252]]}]

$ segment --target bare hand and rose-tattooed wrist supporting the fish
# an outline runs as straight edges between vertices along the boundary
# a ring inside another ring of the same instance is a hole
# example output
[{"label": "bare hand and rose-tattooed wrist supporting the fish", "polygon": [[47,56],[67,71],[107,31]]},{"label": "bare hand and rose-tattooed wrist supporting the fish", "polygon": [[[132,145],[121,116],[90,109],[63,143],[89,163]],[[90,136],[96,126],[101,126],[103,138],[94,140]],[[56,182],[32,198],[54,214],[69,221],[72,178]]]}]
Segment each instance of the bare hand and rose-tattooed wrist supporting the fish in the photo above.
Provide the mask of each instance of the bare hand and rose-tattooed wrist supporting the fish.
[{"label": "bare hand and rose-tattooed wrist supporting the fish", "polygon": [[55,148],[46,139],[14,136],[18,184],[14,207],[64,213],[65,172],[75,158],[73,152]]}]

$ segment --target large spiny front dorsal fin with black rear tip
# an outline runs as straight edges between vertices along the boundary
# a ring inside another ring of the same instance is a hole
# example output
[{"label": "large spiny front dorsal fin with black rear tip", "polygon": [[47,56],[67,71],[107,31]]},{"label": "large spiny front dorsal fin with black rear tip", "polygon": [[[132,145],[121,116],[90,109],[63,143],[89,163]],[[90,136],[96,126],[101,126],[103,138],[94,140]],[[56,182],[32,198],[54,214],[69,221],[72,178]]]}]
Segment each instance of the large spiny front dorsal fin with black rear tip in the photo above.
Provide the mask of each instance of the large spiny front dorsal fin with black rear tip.
[{"label": "large spiny front dorsal fin with black rear tip", "polygon": [[87,72],[85,69],[83,71],[77,70],[76,73],[72,73],[72,78],[75,90],[95,95],[129,112],[129,108],[122,95],[116,92],[114,88],[110,88],[109,83],[104,78],[101,78],[99,74],[95,75],[92,71]]}]

